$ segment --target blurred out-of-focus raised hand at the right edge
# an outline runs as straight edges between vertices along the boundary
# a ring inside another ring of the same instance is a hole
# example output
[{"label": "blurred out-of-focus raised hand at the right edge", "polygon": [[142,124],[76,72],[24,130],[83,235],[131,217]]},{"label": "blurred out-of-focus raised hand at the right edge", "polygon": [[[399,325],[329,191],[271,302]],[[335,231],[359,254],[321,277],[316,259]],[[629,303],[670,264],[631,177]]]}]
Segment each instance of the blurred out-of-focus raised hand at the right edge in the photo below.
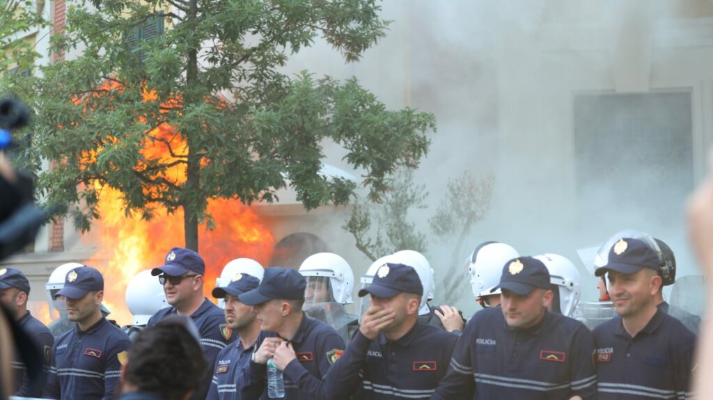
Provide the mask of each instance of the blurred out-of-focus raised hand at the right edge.
[{"label": "blurred out-of-focus raised hand at the right edge", "polygon": [[713,167],[689,200],[688,230],[704,273],[713,275]]}]

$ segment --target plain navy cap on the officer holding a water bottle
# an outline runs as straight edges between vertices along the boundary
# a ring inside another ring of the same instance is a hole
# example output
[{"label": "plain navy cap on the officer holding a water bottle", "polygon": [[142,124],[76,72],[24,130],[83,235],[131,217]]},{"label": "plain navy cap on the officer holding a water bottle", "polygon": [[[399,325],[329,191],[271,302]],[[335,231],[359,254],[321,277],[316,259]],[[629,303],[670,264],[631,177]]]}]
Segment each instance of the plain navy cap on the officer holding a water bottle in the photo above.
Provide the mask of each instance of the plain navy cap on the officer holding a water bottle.
[{"label": "plain navy cap on the officer holding a water bottle", "polygon": [[307,280],[292,268],[270,267],[257,288],[243,293],[237,298],[245,305],[258,305],[272,299],[302,300]]}]

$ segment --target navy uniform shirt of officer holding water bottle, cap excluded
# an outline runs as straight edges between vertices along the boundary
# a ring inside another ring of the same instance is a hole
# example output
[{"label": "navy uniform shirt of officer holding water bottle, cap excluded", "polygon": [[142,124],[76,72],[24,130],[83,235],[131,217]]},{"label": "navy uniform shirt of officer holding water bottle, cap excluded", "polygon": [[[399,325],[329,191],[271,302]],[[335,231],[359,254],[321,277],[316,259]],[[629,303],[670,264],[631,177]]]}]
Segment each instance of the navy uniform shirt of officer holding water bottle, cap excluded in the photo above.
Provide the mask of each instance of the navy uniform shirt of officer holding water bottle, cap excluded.
[{"label": "navy uniform shirt of officer holding water bottle, cap excluded", "polygon": [[[260,332],[255,342],[255,349],[266,337],[277,337],[275,332]],[[302,322],[292,340],[297,359],[284,367],[285,400],[320,400],[326,399],[324,377],[332,364],[344,352],[344,340],[333,327],[322,321],[302,315]],[[270,399],[267,396],[267,368],[265,364],[247,363],[237,381],[240,399]]]}]

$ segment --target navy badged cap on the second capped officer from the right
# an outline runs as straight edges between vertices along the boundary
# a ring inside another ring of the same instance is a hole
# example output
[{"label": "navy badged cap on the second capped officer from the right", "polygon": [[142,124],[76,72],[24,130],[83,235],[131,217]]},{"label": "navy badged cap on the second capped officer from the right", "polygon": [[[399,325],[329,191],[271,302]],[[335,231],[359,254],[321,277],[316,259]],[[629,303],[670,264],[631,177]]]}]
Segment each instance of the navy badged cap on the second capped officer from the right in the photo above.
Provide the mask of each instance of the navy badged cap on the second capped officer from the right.
[{"label": "navy badged cap on the second capped officer from the right", "polygon": [[536,288],[550,290],[550,271],[545,264],[533,257],[518,257],[503,267],[500,283],[493,289],[510,290],[520,296],[529,295]]}]

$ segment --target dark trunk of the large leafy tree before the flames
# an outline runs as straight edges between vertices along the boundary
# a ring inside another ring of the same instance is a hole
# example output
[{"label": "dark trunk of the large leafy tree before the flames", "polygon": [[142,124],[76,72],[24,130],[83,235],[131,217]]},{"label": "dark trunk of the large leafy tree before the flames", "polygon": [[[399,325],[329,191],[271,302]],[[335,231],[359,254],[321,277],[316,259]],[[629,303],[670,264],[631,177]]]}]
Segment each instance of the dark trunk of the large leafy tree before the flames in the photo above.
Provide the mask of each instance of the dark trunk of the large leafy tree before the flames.
[{"label": "dark trunk of the large leafy tree before the flames", "polygon": [[[197,24],[198,22],[198,0],[188,1],[188,13],[186,22]],[[185,93],[183,93],[184,105],[192,105],[200,101],[200,95],[196,95],[198,85],[198,45],[188,49],[188,65],[186,65]],[[197,124],[188,124],[195,127]],[[193,251],[198,251],[198,212],[203,211],[200,205],[205,204],[205,199],[201,198],[200,191],[200,156],[198,149],[193,147],[193,132],[181,132],[188,143],[188,167],[186,168],[185,186],[183,188],[183,228],[185,235],[185,247]]]}]

